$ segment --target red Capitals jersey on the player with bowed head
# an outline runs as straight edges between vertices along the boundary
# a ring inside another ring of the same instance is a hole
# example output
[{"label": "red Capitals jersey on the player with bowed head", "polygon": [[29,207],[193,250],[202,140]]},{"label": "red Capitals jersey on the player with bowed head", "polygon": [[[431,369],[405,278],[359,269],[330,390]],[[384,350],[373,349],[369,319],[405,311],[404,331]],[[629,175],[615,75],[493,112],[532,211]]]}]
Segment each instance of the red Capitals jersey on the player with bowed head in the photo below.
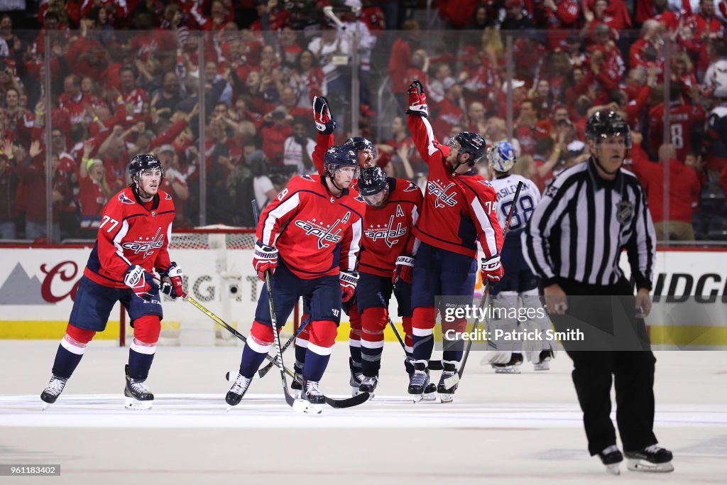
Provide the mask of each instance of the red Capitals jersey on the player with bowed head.
[{"label": "red Capitals jersey on the player with bowed head", "polygon": [[396,258],[414,247],[411,229],[419,219],[422,191],[409,180],[388,178],[389,196],[382,207],[366,207],[364,239],[358,270],[376,276],[391,276]]}]

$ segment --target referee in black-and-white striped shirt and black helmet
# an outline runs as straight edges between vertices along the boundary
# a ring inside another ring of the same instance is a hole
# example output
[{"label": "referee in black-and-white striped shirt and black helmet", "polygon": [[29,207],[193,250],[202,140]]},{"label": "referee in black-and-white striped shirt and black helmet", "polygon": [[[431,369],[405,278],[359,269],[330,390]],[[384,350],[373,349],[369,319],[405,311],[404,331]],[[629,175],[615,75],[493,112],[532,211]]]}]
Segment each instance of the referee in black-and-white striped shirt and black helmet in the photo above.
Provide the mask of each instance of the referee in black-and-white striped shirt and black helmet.
[{"label": "referee in black-and-white striped shirt and black helmet", "polygon": [[[558,175],[534,210],[523,234],[526,260],[542,280],[556,329],[585,322],[588,337],[630,325],[645,340],[646,350],[634,351],[604,345],[603,338],[579,342],[580,347],[564,342],[573,359],[591,456],[598,454],[608,471],[619,473],[623,456],[610,417],[613,379],[628,468],[671,471],[672,454],[656,446],[653,431],[656,359],[643,323],[651,309],[654,223],[638,180],[621,168],[631,145],[624,119],[614,111],[595,113],[586,125],[586,142],[590,159]],[[635,297],[619,268],[622,248],[638,289]],[[586,345],[603,350],[579,350]]]}]

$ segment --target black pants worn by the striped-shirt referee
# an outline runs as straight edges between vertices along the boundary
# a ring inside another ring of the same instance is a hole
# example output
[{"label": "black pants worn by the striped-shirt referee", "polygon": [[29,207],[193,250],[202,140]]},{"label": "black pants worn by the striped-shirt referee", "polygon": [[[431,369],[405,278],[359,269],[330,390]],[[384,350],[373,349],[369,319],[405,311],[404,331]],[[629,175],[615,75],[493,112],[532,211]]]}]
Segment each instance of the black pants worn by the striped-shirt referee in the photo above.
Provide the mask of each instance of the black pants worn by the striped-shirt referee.
[{"label": "black pants worn by the striped-shirt referee", "polygon": [[[628,281],[601,286],[560,280],[569,295],[566,315],[553,315],[558,332],[570,329],[574,321],[587,322],[582,342],[563,342],[573,359],[573,383],[583,411],[583,424],[591,456],[616,444],[616,430],[611,422],[611,383],[616,388],[616,423],[623,449],[633,451],[656,444],[654,436],[654,364],[642,319],[635,318],[635,298]],[[598,298],[571,295],[604,296]],[[606,295],[619,295],[606,298]],[[615,318],[614,318],[615,317]],[[616,326],[630,326],[633,340],[609,340]],[[579,326],[580,327],[580,326]],[[598,348],[599,350],[593,350]],[[639,350],[622,350],[638,348]],[[583,350],[585,349],[585,350]]]}]

